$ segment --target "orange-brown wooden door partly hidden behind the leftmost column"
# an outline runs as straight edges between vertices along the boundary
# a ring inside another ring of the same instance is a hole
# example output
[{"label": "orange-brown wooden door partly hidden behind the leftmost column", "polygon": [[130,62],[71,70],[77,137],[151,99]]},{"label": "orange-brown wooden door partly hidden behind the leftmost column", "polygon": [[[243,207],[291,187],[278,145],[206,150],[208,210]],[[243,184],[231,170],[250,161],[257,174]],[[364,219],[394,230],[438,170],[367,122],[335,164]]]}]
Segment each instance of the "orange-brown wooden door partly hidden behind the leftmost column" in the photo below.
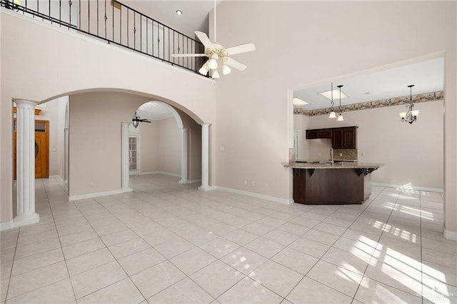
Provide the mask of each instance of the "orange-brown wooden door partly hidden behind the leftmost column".
[{"label": "orange-brown wooden door partly hidden behind the leftmost column", "polygon": [[[14,118],[14,179],[16,179],[16,118]],[[35,121],[35,178],[49,178],[49,121]]]}]

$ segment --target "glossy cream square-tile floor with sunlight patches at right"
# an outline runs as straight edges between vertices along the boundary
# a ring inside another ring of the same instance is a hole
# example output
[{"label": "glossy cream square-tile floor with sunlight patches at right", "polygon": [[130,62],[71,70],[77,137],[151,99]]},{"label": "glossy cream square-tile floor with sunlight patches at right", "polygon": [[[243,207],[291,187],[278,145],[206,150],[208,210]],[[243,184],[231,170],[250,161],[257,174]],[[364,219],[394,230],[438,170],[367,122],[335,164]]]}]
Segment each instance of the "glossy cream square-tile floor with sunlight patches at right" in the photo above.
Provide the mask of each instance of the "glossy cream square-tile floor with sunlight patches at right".
[{"label": "glossy cream square-tile floor with sunlight patches at right", "polygon": [[456,303],[440,193],[373,187],[361,206],[286,206],[133,176],[1,232],[1,303]]}]

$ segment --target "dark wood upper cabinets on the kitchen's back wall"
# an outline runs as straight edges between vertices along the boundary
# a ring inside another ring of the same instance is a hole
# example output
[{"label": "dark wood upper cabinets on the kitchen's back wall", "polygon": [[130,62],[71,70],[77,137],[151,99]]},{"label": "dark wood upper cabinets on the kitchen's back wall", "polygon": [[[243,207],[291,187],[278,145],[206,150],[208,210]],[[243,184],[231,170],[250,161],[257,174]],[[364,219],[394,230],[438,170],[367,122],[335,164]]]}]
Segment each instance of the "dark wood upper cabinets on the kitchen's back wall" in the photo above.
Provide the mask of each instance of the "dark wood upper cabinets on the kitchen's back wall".
[{"label": "dark wood upper cabinets on the kitchen's back wall", "polygon": [[306,139],[331,138],[334,149],[357,148],[357,126],[306,130]]}]

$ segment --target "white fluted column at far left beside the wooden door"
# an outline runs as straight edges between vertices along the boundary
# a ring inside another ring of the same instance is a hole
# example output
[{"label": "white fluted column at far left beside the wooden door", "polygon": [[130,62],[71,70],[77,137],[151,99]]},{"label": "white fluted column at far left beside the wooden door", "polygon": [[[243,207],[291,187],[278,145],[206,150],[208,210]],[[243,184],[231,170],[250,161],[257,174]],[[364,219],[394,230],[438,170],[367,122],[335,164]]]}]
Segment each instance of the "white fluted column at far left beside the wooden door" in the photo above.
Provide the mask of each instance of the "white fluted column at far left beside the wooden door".
[{"label": "white fluted column at far left beside the wooden door", "polygon": [[15,100],[17,216],[14,227],[39,223],[35,213],[35,101]]}]

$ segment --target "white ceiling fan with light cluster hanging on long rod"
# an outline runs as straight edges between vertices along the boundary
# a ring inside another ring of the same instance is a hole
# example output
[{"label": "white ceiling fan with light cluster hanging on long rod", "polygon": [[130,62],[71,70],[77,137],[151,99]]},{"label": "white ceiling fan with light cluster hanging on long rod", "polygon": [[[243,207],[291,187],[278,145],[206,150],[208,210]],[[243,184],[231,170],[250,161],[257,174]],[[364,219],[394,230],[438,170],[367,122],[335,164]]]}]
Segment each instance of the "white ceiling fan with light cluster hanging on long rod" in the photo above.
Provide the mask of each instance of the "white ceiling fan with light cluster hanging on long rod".
[{"label": "white ceiling fan with light cluster hanging on long rod", "polygon": [[[212,78],[220,78],[218,67],[222,66],[222,74],[227,75],[231,72],[230,66],[243,71],[247,68],[246,65],[241,62],[229,58],[231,55],[241,54],[248,51],[254,51],[256,46],[251,43],[241,44],[239,46],[232,46],[225,48],[219,42],[211,42],[208,36],[204,32],[195,31],[195,35],[199,38],[201,43],[205,47],[204,54],[172,54],[172,57],[208,57],[209,59],[199,69],[199,73],[202,75],[208,74],[211,70]],[[216,40],[216,0],[214,0],[214,40]]]}]

